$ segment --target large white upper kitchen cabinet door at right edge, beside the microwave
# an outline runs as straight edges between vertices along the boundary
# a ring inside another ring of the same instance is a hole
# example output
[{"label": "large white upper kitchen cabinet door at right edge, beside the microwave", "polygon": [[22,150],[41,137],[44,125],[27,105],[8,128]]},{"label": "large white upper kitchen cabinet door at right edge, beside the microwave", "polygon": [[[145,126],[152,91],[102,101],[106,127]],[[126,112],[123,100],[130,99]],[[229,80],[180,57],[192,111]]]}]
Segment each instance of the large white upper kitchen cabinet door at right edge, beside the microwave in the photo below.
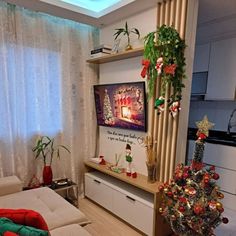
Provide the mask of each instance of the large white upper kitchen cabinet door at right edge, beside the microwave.
[{"label": "large white upper kitchen cabinet door at right edge, beside the microwave", "polygon": [[236,38],[211,44],[205,100],[235,100]]}]

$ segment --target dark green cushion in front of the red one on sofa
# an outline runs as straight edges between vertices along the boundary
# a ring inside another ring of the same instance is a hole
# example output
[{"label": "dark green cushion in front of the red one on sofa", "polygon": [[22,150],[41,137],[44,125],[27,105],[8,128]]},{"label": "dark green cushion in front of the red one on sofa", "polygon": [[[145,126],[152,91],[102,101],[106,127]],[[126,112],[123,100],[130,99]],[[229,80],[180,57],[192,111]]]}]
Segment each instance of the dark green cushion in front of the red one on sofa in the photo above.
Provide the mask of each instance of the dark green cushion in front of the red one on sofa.
[{"label": "dark green cushion in front of the red one on sofa", "polygon": [[0,235],[10,231],[24,236],[48,236],[48,231],[36,229],[34,227],[15,224],[7,218],[0,218]]}]

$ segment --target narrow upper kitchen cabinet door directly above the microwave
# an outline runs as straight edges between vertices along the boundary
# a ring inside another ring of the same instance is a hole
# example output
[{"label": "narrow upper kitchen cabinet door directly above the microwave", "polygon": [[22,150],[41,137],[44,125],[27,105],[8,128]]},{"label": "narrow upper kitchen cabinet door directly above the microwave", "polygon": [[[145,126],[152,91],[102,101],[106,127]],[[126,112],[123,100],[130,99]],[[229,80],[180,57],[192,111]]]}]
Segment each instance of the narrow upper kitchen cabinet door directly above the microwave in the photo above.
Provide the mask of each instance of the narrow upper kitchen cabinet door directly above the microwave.
[{"label": "narrow upper kitchen cabinet door directly above the microwave", "polygon": [[203,45],[196,45],[193,62],[193,73],[208,71],[209,56],[209,43]]}]

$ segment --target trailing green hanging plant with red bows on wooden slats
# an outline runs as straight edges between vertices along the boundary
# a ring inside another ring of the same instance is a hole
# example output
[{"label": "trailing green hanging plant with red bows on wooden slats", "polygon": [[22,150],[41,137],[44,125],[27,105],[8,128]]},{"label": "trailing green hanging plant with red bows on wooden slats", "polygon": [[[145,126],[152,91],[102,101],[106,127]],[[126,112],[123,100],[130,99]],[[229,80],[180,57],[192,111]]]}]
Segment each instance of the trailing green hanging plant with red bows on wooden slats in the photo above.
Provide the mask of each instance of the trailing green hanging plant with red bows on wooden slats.
[{"label": "trailing green hanging plant with red bows on wooden slats", "polygon": [[165,96],[166,85],[173,88],[169,105],[182,98],[185,78],[185,42],[173,28],[162,25],[144,38],[144,60],[142,77],[147,77],[149,98],[154,94],[154,85],[161,77],[161,96]]}]

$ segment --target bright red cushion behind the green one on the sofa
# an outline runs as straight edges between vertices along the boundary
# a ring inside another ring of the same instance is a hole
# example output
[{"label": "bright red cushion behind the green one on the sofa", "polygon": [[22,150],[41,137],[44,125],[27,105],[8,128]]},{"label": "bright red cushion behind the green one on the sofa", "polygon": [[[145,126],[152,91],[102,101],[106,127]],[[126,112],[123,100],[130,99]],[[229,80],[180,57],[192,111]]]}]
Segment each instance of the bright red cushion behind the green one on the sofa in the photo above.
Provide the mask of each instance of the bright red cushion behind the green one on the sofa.
[{"label": "bright red cushion behind the green one on the sofa", "polygon": [[48,226],[43,217],[36,211],[28,209],[0,209],[0,217],[6,217],[16,224],[32,226],[47,230]]}]

